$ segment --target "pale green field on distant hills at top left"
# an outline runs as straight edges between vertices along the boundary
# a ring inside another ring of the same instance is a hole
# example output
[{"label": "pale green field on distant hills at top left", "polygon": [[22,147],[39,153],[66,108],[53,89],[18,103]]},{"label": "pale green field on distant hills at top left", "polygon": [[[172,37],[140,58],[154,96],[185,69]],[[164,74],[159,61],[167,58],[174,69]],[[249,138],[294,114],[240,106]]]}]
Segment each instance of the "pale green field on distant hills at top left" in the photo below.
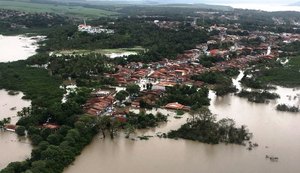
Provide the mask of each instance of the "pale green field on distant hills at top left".
[{"label": "pale green field on distant hills at top left", "polygon": [[18,11],[25,11],[29,13],[57,13],[77,17],[103,17],[113,16],[117,13],[112,11],[106,11],[101,9],[86,8],[81,6],[67,6],[67,5],[55,5],[55,4],[39,4],[31,2],[17,2],[17,1],[0,1],[0,8],[11,9]]}]

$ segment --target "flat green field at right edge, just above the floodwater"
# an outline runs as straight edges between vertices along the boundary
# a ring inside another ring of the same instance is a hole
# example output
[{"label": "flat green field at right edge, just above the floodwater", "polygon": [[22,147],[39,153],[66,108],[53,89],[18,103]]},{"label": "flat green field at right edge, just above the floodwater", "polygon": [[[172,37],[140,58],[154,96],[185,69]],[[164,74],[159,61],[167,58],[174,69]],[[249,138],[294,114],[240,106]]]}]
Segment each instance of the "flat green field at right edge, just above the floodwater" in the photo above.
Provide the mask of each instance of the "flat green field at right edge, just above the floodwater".
[{"label": "flat green field at right edge, just above the floodwater", "polygon": [[300,86],[300,56],[291,57],[283,67],[264,71],[259,80],[289,87]]}]

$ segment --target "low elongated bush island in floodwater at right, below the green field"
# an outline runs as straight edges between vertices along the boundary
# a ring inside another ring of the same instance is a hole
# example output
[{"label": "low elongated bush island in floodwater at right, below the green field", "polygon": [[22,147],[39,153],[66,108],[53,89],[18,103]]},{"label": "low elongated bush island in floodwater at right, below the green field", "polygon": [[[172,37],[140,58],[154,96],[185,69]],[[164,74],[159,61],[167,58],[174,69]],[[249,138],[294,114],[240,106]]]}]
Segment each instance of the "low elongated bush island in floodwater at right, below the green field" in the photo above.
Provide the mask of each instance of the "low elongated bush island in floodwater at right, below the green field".
[{"label": "low elongated bush island in floodwater at right, below the green field", "polygon": [[274,100],[280,98],[276,93],[270,93],[268,91],[246,91],[242,90],[240,93],[237,94],[239,97],[248,98],[250,102],[255,103],[266,103],[267,100]]}]

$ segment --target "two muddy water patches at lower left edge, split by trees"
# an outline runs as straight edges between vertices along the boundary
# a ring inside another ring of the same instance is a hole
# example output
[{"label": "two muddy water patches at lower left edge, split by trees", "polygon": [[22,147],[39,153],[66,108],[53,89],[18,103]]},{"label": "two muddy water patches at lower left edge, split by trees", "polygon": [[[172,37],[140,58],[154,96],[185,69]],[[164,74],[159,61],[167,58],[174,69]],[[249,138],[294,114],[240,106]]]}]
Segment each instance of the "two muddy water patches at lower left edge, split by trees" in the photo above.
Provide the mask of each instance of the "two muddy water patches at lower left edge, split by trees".
[{"label": "two muddy water patches at lower left edge, split by trees", "polygon": [[[0,90],[0,120],[11,117],[11,124],[18,121],[17,111],[30,106],[31,102],[22,100],[22,93],[8,95],[5,90]],[[11,110],[14,108],[14,110]],[[0,130],[0,170],[10,162],[22,161],[30,157],[32,147],[28,139],[19,138],[14,132]]]}]

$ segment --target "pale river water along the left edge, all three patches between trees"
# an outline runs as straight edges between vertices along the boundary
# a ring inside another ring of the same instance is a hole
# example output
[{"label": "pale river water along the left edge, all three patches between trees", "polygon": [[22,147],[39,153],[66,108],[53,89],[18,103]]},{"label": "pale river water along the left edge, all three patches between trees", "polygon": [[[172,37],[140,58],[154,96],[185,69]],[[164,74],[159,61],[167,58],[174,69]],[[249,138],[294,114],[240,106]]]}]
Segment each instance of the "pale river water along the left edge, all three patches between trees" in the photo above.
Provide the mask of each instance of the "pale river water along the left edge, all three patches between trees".
[{"label": "pale river water along the left edge, all three patches between trees", "polygon": [[[35,54],[36,42],[42,37],[2,36],[0,35],[0,62],[26,59]],[[11,124],[18,121],[17,112],[31,105],[23,100],[23,93],[11,96],[0,90],[0,120],[11,117]],[[11,109],[13,108],[13,109]],[[26,138],[19,138],[15,133],[0,131],[0,170],[10,162],[22,161],[30,157],[32,146]]]}]

